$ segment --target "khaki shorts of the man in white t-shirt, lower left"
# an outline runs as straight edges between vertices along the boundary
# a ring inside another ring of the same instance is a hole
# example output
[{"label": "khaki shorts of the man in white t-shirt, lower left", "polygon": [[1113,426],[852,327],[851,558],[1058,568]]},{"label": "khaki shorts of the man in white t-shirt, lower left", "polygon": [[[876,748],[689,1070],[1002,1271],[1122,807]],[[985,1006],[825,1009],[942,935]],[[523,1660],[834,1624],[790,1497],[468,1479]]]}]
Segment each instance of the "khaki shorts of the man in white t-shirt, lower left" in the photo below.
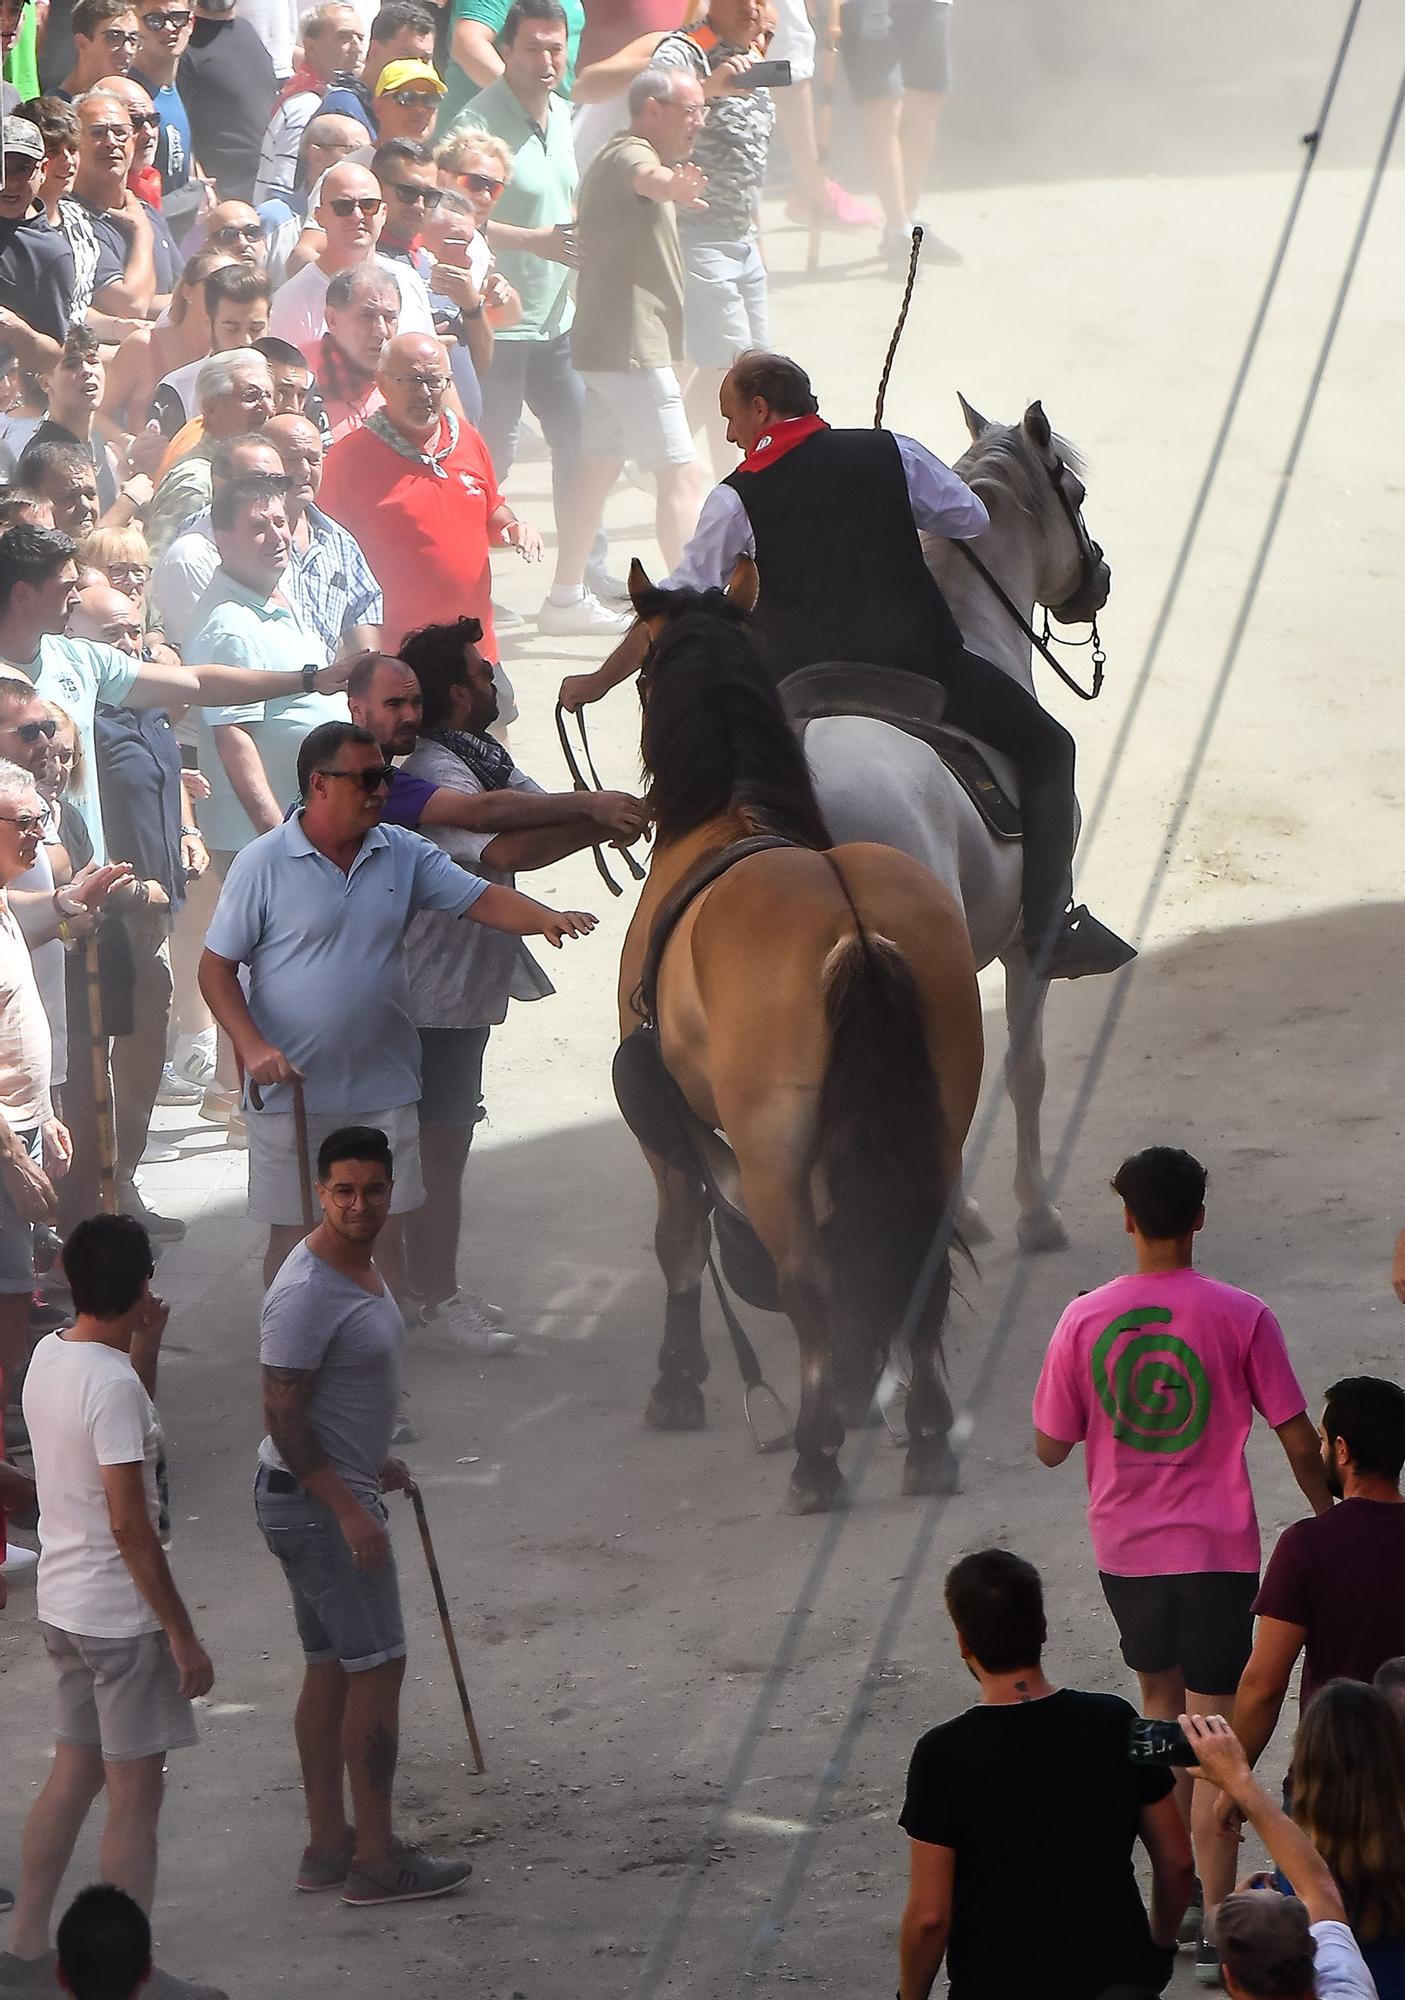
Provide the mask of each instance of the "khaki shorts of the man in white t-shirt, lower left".
[{"label": "khaki shorts of the man in white t-shirt, lower left", "polygon": [[58,1674],[60,1744],[102,1750],[112,1764],[164,1756],[198,1742],[194,1708],[164,1632],[86,1638],[40,1620]]}]

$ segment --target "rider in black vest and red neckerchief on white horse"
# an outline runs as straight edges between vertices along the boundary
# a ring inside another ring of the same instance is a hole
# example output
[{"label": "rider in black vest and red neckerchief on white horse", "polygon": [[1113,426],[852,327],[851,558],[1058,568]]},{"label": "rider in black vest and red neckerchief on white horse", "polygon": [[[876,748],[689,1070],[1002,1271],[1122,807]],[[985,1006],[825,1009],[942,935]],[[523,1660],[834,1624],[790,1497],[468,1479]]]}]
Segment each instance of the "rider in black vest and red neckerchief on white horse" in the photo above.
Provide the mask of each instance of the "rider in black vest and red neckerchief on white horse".
[{"label": "rider in black vest and red neckerchief on white horse", "polygon": [[[881,662],[937,680],[945,720],[1009,756],[1019,772],[1023,942],[1049,978],[1117,972],[1135,952],[1073,906],[1073,736],[1039,700],[969,652],[923,558],[921,532],[971,540],[989,526],[965,480],[915,438],[831,430],[805,370],[783,354],[733,362],[721,390],[741,466],[702,504],[664,588],[713,590],[753,556],[761,600],[753,628],[777,680],[803,666]],[[636,624],[594,674],[570,674],[562,708],[578,710],[628,680],[648,632]]]}]

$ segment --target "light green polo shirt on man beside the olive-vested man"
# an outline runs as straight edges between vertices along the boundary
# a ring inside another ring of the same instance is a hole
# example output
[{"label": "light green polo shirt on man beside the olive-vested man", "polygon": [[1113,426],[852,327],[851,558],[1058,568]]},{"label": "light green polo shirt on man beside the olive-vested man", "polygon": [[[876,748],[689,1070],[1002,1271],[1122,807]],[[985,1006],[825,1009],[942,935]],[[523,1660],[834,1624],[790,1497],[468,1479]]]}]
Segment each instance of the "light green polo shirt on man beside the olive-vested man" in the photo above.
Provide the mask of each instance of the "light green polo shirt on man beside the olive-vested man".
[{"label": "light green polo shirt on man beside the olive-vested man", "polygon": [[488,84],[462,114],[460,126],[480,126],[512,148],[512,178],[488,220],[488,248],[522,300],[522,318],[498,340],[554,340],[574,318],[570,270],[528,250],[498,250],[494,222],[514,222],[524,230],[572,222],[576,214],[576,148],[570,138],[570,110],[562,98],[546,106],[546,130],[534,124],[508,90],[506,78]]}]

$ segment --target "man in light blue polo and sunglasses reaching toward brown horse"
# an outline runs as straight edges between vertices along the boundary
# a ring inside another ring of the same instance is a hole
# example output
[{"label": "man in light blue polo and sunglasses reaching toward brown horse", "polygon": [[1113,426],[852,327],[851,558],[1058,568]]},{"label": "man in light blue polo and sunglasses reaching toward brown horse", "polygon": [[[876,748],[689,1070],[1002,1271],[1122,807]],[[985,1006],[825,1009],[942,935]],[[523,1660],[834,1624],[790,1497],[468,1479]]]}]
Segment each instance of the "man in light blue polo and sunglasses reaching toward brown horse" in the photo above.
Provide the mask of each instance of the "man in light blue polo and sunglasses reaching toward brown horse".
[{"label": "man in light blue polo and sunglasses reaching toward brown horse", "polygon": [[[200,992],[262,1098],[260,1110],[250,1098],[246,1124],[248,1212],[268,1224],[264,1284],[304,1234],[302,1186],[310,1194],[306,1162],[300,1172],[296,1160],[294,1078],[312,1158],[340,1126],[374,1126],[396,1162],[390,1214],[424,1200],[418,1036],[404,972],[410,918],[444,910],[556,946],[594,930],[580,910],[548,910],[468,874],[418,834],[382,826],[390,766],[368,730],[322,724],[296,762],[302,812],[234,858],[200,960]],[[378,1262],[400,1292],[398,1224],[386,1228]]]}]

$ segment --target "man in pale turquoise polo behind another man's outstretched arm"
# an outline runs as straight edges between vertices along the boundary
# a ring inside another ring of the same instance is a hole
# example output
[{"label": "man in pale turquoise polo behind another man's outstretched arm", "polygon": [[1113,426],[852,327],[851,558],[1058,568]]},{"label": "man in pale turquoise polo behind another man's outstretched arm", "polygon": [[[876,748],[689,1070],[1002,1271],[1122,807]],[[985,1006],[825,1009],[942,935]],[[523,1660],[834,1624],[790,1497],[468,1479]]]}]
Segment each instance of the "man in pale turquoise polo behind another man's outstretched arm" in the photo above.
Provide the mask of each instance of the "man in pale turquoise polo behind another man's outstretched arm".
[{"label": "man in pale turquoise polo behind another man's outstretched arm", "polygon": [[318,694],[326,642],[282,590],[290,530],[282,482],[252,474],[216,488],[210,530],[220,568],[196,612],[188,652],[196,660],[266,672],[302,672],[296,694],[200,712],[214,744],[202,758],[210,798],[200,830],[212,854],[228,856],[282,822],[298,796],[298,748],[318,722],[350,720],[344,694]]}]

